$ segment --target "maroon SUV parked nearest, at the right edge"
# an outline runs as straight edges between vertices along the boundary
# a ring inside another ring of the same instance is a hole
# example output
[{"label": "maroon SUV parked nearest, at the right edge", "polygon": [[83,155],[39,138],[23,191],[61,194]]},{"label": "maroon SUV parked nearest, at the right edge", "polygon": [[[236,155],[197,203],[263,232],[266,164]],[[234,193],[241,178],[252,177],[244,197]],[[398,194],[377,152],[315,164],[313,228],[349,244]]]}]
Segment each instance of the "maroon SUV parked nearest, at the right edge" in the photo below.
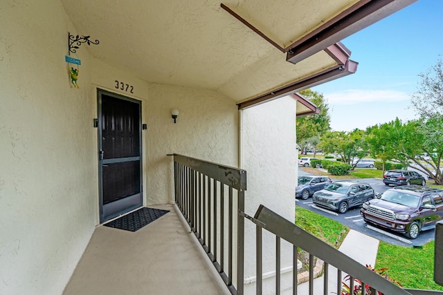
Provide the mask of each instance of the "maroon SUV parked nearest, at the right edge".
[{"label": "maroon SUV parked nearest, at the right edge", "polygon": [[443,189],[410,185],[388,189],[363,204],[366,223],[417,238],[443,219]]}]

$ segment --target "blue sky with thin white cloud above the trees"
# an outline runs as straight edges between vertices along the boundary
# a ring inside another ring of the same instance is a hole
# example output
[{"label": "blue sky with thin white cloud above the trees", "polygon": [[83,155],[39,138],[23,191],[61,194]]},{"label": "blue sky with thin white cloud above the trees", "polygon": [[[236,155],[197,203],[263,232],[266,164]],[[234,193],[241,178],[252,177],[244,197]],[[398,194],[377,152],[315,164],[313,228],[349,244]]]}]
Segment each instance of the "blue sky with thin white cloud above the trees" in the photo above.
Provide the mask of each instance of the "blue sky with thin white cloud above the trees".
[{"label": "blue sky with thin white cloud above the trees", "polygon": [[356,73],[312,87],[329,106],[333,131],[417,119],[419,74],[443,59],[443,0],[419,0],[342,40]]}]

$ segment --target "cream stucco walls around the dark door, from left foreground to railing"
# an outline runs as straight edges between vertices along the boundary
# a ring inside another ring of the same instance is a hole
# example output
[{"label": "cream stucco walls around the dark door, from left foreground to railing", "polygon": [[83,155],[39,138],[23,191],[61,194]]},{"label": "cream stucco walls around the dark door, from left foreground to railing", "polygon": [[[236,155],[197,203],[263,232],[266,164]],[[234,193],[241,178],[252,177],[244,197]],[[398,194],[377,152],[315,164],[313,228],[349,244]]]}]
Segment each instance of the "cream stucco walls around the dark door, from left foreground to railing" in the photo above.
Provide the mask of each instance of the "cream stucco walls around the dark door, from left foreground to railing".
[{"label": "cream stucco walls around the dark door, from left foreground to railing", "polygon": [[57,0],[3,3],[0,24],[0,294],[61,294],[98,224],[96,89],[127,95],[117,79],[142,101],[146,204],[173,202],[168,153],[237,166],[237,106],[214,91],[149,84],[93,59],[87,44],[72,88],[67,35],[88,32]]}]

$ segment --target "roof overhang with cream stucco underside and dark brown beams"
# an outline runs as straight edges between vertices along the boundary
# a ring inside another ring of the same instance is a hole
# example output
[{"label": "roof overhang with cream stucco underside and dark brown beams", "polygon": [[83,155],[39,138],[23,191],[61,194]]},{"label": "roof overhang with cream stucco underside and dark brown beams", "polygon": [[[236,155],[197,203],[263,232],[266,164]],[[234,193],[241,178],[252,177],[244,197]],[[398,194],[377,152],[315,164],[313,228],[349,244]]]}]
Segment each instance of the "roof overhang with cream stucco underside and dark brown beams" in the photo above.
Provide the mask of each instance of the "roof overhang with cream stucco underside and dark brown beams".
[{"label": "roof overhang with cream stucco underside and dark brown beams", "polygon": [[60,1],[96,59],[245,108],[354,73],[338,42],[416,0]]}]

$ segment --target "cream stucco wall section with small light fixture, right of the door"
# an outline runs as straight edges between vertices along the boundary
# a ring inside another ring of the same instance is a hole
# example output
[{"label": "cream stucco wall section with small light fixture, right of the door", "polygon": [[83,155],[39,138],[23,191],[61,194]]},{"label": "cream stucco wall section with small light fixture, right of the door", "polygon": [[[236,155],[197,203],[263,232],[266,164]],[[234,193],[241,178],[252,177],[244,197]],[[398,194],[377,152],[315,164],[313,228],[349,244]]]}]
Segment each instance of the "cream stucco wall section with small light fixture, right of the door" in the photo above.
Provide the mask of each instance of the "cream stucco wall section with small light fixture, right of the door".
[{"label": "cream stucco wall section with small light fixture, right of the door", "polygon": [[[176,124],[172,108],[180,112]],[[174,201],[172,157],[167,154],[238,166],[238,111],[232,100],[213,91],[152,84],[144,110],[147,204]]]}]

